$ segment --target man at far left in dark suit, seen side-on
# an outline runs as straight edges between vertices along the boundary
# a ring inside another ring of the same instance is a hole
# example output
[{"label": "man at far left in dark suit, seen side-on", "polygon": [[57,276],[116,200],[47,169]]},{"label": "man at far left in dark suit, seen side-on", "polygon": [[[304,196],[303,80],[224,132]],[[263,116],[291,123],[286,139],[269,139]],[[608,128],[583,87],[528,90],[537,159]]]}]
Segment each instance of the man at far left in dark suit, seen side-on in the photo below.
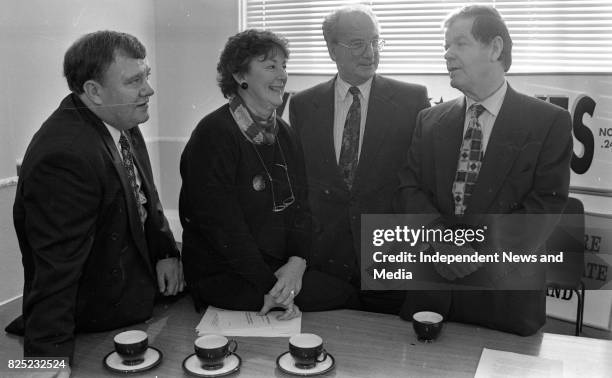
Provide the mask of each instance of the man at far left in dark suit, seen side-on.
[{"label": "man at far left in dark suit, seen side-on", "polygon": [[124,33],[77,40],[64,57],[72,93],[26,151],[13,207],[25,357],[72,360],[75,332],[144,321],[158,291],[182,290],[138,128],[153,95],[145,55]]}]

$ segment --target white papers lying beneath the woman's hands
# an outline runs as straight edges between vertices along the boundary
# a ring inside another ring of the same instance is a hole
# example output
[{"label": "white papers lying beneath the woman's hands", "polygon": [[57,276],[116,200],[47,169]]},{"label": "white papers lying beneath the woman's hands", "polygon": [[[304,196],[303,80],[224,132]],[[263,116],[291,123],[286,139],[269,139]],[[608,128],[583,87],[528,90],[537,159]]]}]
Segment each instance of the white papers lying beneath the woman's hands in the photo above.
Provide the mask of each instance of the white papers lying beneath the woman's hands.
[{"label": "white papers lying beneath the woman's hands", "polygon": [[280,311],[259,316],[254,311],[230,311],[209,306],[196,327],[198,335],[290,337],[300,333],[302,318],[277,320]]}]

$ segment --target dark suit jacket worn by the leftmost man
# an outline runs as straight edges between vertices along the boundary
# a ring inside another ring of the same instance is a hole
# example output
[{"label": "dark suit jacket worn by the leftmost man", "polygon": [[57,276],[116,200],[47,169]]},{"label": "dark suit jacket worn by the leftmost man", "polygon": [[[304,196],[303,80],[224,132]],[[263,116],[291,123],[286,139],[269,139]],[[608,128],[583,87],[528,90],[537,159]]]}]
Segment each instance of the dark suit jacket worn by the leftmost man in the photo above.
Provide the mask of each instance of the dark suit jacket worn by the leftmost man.
[{"label": "dark suit jacket worn by the leftmost man", "polygon": [[28,146],[13,207],[25,275],[25,356],[72,358],[75,331],[151,315],[155,264],[178,250],[140,130],[128,137],[148,199],[144,229],[110,133],[76,95],[64,98]]}]

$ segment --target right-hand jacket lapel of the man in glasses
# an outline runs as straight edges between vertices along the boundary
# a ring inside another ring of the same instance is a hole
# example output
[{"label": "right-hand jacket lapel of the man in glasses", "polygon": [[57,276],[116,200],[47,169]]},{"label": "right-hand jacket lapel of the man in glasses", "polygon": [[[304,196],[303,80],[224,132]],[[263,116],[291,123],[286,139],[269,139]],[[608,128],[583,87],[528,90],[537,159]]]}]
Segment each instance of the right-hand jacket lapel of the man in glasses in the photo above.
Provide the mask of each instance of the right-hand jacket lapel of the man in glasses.
[{"label": "right-hand jacket lapel of the man in glasses", "polygon": [[368,101],[368,114],[363,133],[361,155],[353,187],[362,186],[361,182],[368,177],[367,173],[376,161],[378,151],[383,145],[387,132],[396,126],[388,121],[388,115],[394,113],[393,108],[395,105],[391,101],[393,95],[392,89],[389,88],[384,79],[374,76]]}]

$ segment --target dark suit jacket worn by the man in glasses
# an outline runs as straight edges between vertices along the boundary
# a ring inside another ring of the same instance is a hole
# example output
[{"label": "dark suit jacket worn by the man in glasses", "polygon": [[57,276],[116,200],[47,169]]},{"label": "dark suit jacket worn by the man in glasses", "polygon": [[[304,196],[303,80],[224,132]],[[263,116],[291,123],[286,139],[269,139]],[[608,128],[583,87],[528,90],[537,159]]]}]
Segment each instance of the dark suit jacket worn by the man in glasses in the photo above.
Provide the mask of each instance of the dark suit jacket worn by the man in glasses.
[{"label": "dark suit jacket worn by the man in glasses", "polygon": [[294,95],[291,126],[301,140],[314,216],[315,269],[346,281],[359,278],[361,214],[390,213],[416,115],[427,89],[376,75],[372,81],[359,165],[352,189],[342,179],[333,140],[334,81]]}]

